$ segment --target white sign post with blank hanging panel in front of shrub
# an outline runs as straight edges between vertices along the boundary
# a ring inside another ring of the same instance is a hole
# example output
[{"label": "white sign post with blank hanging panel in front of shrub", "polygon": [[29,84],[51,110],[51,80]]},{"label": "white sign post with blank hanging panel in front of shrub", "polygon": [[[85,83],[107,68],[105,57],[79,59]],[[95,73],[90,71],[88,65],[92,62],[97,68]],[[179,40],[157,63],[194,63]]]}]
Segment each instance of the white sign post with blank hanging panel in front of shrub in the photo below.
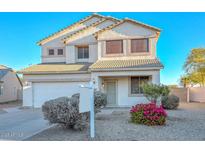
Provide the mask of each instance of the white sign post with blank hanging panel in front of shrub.
[{"label": "white sign post with blank hanging panel in front of shrub", "polygon": [[94,111],[94,83],[89,82],[89,85],[80,85],[80,104],[79,111],[90,111],[90,137],[95,137],[95,111]]}]

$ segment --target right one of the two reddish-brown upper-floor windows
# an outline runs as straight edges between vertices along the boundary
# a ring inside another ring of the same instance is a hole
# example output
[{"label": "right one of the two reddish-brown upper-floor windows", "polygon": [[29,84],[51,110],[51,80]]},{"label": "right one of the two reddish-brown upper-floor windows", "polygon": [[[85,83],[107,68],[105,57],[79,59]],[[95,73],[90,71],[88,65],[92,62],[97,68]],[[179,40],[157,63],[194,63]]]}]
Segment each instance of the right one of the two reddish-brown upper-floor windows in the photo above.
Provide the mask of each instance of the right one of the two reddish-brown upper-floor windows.
[{"label": "right one of the two reddish-brown upper-floor windows", "polygon": [[149,39],[131,40],[131,53],[149,52]]}]

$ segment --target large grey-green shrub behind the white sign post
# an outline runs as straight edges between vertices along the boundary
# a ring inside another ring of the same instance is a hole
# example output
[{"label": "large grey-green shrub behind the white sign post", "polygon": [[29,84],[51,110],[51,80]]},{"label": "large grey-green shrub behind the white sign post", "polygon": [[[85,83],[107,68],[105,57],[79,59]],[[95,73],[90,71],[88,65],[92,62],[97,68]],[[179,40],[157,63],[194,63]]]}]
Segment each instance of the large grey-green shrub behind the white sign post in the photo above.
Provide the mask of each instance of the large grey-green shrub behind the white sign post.
[{"label": "large grey-green shrub behind the white sign post", "polygon": [[[95,92],[95,112],[99,112],[107,104],[106,95],[102,92]],[[79,113],[80,94],[72,97],[60,97],[46,101],[42,106],[44,118],[50,123],[57,123],[66,128],[82,130],[87,125],[89,113]]]}]

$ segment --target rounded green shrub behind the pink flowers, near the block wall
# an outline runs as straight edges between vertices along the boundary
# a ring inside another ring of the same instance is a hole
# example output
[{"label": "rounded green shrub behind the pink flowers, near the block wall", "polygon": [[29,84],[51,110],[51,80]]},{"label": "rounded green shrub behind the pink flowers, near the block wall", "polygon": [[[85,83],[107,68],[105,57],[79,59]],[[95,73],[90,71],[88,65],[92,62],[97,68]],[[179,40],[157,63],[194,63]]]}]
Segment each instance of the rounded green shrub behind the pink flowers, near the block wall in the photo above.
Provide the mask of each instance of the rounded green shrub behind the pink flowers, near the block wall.
[{"label": "rounded green shrub behind the pink flowers, near the block wall", "polygon": [[175,110],[179,106],[179,97],[175,95],[163,96],[161,101],[164,109]]}]

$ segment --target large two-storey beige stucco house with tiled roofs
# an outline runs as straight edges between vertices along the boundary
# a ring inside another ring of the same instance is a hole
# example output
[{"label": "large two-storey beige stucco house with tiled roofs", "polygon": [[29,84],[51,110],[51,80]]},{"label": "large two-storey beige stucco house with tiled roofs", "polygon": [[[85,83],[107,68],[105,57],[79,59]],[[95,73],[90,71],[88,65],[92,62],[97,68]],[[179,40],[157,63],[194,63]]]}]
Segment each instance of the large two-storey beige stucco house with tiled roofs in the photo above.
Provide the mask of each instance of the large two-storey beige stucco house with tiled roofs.
[{"label": "large two-storey beige stucco house with tiled roofs", "polygon": [[163,68],[156,56],[159,35],[160,29],[132,19],[92,14],[44,38],[38,42],[42,63],[20,71],[30,83],[24,105],[71,96],[91,80],[107,93],[108,106],[147,102],[141,85],[159,84]]}]

